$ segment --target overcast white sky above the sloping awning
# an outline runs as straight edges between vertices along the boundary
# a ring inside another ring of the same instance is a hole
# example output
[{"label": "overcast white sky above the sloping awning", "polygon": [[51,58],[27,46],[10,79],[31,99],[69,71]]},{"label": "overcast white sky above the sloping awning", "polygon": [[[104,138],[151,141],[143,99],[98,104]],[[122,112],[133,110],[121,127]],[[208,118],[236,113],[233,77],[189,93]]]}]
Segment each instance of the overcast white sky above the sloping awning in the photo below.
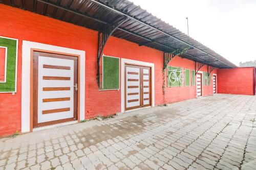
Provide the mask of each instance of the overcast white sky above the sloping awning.
[{"label": "overcast white sky above the sloping awning", "polygon": [[[256,60],[256,0],[130,0],[232,63]],[[255,52],[254,52],[255,51]]]}]

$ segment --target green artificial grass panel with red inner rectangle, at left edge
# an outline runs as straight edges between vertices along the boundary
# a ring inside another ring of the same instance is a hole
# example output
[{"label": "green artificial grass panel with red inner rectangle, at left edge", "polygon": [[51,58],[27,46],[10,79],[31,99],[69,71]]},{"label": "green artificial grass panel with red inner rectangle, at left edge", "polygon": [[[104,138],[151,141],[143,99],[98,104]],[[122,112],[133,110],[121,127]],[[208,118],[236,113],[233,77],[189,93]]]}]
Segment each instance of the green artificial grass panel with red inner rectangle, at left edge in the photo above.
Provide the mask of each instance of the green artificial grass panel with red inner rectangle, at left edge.
[{"label": "green artificial grass panel with red inner rectangle, at left edge", "polygon": [[0,46],[7,47],[6,83],[0,83],[0,92],[15,92],[17,40],[0,37]]}]

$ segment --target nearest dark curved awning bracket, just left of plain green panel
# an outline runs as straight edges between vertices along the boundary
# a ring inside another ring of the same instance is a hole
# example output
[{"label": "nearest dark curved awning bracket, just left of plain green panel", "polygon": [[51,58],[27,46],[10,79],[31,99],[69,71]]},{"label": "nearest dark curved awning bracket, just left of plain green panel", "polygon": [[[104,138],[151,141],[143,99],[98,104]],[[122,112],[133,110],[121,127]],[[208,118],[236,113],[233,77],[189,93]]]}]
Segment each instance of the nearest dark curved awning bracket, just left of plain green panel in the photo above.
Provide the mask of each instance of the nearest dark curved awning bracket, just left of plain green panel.
[{"label": "nearest dark curved awning bracket, just left of plain green panel", "polygon": [[97,81],[98,81],[98,87],[100,88],[100,57],[102,56],[104,46],[106,44],[106,41],[108,41],[109,37],[113,34],[113,32],[121,26],[125,21],[127,21],[128,18],[127,16],[124,16],[123,19],[115,23],[114,25],[109,26],[107,29],[102,30],[98,32],[98,58],[97,58],[97,66],[98,66],[98,71],[97,71]]}]

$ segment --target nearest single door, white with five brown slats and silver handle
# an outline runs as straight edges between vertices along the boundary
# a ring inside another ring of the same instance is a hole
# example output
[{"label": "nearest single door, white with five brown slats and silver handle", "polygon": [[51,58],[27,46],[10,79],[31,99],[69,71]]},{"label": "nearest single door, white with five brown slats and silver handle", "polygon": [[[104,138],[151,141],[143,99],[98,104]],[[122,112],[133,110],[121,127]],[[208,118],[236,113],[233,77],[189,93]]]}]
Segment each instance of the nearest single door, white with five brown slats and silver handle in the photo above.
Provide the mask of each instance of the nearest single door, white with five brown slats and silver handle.
[{"label": "nearest single door, white with five brown slats and silver handle", "polygon": [[33,128],[77,120],[77,57],[33,53]]}]

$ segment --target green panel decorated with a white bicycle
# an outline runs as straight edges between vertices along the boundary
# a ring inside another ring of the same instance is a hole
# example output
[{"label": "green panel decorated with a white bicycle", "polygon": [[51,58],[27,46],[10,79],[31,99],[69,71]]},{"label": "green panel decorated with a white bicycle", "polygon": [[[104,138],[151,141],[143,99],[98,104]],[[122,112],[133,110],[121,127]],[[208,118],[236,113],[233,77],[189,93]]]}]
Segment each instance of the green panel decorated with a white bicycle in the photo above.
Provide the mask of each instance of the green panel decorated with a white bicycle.
[{"label": "green panel decorated with a white bicycle", "polygon": [[168,87],[179,87],[183,85],[184,74],[182,68],[168,66],[167,67],[167,86]]}]

